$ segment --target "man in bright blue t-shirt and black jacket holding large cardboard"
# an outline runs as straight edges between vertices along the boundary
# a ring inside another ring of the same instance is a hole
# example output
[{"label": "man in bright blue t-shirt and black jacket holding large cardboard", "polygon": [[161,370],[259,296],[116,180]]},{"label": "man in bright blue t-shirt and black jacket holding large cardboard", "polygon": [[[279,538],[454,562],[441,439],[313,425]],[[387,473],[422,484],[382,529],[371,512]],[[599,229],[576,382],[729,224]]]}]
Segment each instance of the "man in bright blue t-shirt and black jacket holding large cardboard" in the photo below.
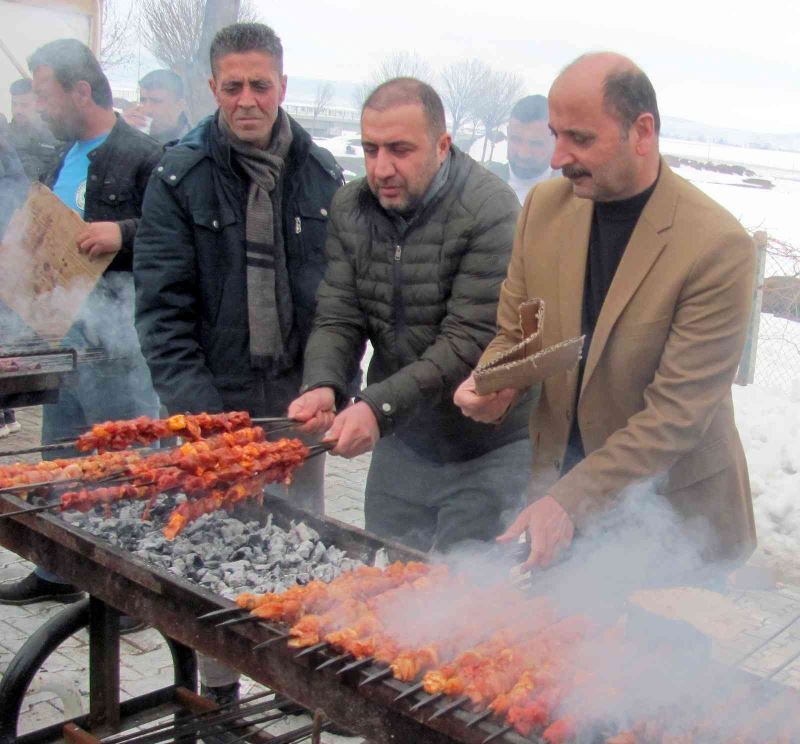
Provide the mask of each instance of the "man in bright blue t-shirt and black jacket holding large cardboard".
[{"label": "man in bright blue t-shirt and black jacket holding large cardboard", "polygon": [[[77,381],[44,406],[42,442],[74,439],[108,419],[158,415],[158,398],[133,326],[133,238],[161,146],[117,117],[111,88],[88,47],[60,39],[28,60],[42,119],[68,143],[42,180],[86,222],[75,250],[113,254],[65,343],[79,352]],[[59,450],[58,457],[80,453]],[[0,587],[0,603],[71,601],[77,587],[39,569]]]}]

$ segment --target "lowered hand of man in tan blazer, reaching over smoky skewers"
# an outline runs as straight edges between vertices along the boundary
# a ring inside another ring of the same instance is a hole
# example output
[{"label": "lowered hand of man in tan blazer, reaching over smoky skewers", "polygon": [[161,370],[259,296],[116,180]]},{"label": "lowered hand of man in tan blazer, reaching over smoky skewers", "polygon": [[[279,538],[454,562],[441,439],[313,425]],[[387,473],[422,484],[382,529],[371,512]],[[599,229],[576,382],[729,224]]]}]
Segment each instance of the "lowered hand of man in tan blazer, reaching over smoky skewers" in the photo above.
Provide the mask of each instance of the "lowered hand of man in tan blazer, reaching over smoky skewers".
[{"label": "lowered hand of man in tan blazer, reaching over smoky skewers", "polygon": [[514,523],[497,538],[499,542],[516,540],[525,530],[531,544],[528,560],[522,570],[534,566],[544,568],[565,548],[572,544],[575,527],[569,515],[552,496],[534,501],[522,510]]}]

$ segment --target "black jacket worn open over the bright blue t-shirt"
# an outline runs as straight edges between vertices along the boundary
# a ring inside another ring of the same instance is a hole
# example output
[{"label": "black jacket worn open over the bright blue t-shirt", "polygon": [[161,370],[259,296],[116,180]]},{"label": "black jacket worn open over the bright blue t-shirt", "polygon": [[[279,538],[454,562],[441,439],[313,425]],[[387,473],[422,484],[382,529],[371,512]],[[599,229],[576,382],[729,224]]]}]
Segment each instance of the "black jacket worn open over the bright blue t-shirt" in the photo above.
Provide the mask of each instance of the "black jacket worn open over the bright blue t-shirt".
[{"label": "black jacket worn open over the bright blue t-shirt", "polygon": [[[55,167],[42,177],[48,188],[52,189],[58,180],[72,144],[61,146]],[[122,248],[108,271],[131,271],[133,268],[133,238],[142,213],[144,192],[161,154],[158,142],[119,116],[105,142],[89,153],[83,219],[116,222],[122,232]]]}]

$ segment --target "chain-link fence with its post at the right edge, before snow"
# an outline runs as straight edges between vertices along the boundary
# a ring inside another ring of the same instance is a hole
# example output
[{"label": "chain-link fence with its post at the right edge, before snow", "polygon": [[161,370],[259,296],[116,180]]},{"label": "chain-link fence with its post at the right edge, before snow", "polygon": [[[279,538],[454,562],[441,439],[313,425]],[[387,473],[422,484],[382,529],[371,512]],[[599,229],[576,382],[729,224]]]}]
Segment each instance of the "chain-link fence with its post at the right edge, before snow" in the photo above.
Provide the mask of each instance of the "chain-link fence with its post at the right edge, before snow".
[{"label": "chain-link fence with its post at the right edge, before snow", "polygon": [[765,232],[753,237],[756,290],[737,382],[800,399],[800,249]]}]

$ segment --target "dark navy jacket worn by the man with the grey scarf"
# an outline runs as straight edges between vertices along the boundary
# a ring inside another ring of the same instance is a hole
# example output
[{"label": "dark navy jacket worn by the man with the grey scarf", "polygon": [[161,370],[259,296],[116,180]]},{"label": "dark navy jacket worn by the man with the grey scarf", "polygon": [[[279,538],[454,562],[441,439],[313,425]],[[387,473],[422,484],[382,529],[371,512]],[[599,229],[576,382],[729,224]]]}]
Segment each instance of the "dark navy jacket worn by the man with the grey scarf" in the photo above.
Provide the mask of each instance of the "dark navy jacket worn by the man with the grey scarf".
[{"label": "dark navy jacket worn by the man with the grey scarf", "polygon": [[[302,349],[325,270],[328,207],[343,179],[333,156],[290,121],[282,214],[292,333]],[[136,329],[156,391],[172,412],[282,415],[297,396],[302,352],[285,374],[265,378],[250,367],[247,188],[216,116],[166,151],[148,186],[134,259]]]}]

